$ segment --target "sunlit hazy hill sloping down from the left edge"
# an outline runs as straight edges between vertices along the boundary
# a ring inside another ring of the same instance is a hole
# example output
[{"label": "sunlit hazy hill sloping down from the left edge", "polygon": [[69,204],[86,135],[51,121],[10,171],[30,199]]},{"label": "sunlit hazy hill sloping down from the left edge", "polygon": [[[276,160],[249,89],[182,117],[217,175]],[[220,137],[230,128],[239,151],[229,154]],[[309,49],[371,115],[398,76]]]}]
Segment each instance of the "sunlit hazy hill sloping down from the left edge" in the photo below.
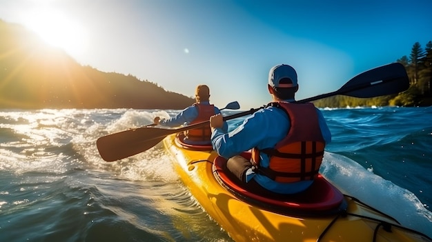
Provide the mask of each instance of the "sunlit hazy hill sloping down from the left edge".
[{"label": "sunlit hazy hill sloping down from the left edge", "polygon": [[194,99],[132,75],[79,65],[23,26],[0,20],[0,108],[183,109]]}]

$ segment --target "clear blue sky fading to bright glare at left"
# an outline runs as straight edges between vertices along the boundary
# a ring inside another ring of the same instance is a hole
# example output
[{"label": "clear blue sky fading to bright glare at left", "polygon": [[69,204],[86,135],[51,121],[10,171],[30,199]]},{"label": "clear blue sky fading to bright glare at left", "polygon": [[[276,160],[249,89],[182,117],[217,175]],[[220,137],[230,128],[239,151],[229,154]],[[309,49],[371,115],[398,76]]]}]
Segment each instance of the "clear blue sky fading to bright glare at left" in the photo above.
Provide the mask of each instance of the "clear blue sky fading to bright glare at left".
[{"label": "clear blue sky fading to bright glare at left", "polygon": [[333,92],[432,41],[430,0],[0,0],[0,19],[81,65],[131,74],[242,110],[271,97],[268,71],[297,70],[296,99]]}]

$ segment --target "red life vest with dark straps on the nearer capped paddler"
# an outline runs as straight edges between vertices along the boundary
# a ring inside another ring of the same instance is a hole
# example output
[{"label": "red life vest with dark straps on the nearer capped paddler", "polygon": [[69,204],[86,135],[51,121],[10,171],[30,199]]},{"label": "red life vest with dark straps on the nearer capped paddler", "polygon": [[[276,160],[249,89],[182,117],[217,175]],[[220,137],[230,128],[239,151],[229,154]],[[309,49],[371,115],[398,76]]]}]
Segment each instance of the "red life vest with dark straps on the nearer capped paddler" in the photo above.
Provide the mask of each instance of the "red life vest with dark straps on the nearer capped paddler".
[{"label": "red life vest with dark straps on the nearer capped paddler", "polygon": [[[286,102],[268,105],[284,110],[291,121],[291,128],[275,148],[253,148],[252,161],[257,172],[281,183],[315,179],[325,147],[315,106],[313,103]],[[259,152],[268,154],[268,168],[259,165]]]}]

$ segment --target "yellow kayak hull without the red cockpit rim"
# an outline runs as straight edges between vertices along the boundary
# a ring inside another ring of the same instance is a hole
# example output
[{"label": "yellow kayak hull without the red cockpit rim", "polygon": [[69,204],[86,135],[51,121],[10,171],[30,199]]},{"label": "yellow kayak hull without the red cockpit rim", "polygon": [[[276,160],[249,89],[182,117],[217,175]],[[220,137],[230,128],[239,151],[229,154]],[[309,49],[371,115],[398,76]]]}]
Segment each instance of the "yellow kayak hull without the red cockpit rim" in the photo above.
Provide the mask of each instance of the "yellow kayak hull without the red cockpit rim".
[{"label": "yellow kayak hull without the red cockpit rim", "polygon": [[213,161],[218,156],[213,150],[185,148],[175,134],[164,139],[164,147],[190,193],[235,241],[430,241],[348,196],[339,212],[319,216],[257,206],[221,185],[215,176]]}]

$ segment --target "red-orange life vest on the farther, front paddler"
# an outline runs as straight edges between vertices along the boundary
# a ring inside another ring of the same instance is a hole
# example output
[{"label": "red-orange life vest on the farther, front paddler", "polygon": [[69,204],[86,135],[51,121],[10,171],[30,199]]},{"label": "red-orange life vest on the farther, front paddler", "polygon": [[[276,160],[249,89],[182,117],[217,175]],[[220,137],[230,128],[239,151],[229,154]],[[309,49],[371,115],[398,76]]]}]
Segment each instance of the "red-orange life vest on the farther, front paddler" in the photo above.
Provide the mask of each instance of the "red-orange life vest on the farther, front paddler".
[{"label": "red-orange life vest on the farther, front paddler", "polygon": [[[206,105],[202,103],[195,103],[194,105],[198,108],[198,116],[193,121],[191,121],[189,125],[202,121],[207,121],[212,115],[215,115],[215,105],[213,104]],[[186,130],[184,134],[186,138],[190,141],[210,141],[210,125],[205,125],[192,130]]]}]

